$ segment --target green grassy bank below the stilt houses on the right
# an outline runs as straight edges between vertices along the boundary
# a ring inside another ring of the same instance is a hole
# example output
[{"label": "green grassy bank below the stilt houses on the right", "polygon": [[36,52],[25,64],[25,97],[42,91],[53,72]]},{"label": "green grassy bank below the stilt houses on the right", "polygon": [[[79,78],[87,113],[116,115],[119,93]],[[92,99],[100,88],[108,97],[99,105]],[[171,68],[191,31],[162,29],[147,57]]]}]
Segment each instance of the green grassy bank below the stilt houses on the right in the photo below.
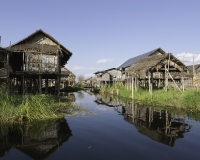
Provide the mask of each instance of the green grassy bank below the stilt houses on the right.
[{"label": "green grassy bank below the stilt houses on the right", "polygon": [[[118,92],[117,92],[118,91]],[[101,93],[109,93],[122,98],[132,97],[132,91],[121,84],[113,85],[112,87],[104,86],[100,90]],[[141,104],[151,104],[159,106],[170,106],[176,108],[189,109],[191,112],[200,111],[200,91],[185,90],[181,92],[177,89],[169,89],[167,92],[164,89],[153,89],[153,95],[150,96],[148,89],[138,88],[134,92],[134,99]]]}]

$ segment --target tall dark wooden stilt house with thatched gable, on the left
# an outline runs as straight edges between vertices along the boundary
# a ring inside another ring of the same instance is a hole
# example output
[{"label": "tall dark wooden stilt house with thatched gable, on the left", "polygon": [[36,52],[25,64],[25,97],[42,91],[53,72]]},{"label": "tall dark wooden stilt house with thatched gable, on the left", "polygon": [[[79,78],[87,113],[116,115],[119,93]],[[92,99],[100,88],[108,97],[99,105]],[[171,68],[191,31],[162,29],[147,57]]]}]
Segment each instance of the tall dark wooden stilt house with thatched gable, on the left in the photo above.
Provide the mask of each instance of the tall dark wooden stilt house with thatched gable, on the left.
[{"label": "tall dark wooden stilt house with thatched gable, on the left", "polygon": [[7,48],[9,79],[13,92],[48,92],[48,81],[55,81],[55,93],[60,92],[61,67],[72,53],[43,30],[37,30]]}]

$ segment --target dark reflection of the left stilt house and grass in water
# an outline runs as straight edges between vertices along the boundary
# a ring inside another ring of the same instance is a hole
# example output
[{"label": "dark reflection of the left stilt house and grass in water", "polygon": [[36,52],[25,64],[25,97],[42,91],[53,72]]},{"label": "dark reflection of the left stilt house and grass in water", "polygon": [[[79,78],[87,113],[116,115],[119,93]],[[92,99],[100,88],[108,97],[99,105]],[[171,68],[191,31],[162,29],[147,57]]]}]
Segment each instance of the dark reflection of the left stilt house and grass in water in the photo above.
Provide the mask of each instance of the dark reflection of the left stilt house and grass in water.
[{"label": "dark reflection of the left stilt house and grass in water", "polygon": [[0,129],[0,157],[16,148],[33,159],[44,159],[72,136],[64,118],[47,123],[1,126]]}]

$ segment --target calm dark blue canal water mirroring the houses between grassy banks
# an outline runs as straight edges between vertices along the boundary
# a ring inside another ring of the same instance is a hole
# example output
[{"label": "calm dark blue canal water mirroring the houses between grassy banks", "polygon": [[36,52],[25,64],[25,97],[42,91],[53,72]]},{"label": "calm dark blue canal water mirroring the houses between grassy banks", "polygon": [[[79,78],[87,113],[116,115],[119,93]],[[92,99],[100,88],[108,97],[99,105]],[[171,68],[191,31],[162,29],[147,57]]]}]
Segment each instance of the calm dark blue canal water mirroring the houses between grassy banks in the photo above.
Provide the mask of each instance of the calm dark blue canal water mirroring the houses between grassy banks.
[{"label": "calm dark blue canal water mirroring the houses between grassy banks", "polygon": [[75,103],[93,114],[0,126],[1,159],[200,159],[200,123],[86,92]]}]

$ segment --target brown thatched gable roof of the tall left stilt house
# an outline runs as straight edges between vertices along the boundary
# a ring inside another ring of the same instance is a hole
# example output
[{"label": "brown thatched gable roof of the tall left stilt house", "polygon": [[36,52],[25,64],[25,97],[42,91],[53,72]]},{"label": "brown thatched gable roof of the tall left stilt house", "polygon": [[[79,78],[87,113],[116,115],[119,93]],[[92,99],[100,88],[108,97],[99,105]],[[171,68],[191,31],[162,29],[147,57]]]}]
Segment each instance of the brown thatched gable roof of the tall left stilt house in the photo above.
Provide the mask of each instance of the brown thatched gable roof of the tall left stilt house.
[{"label": "brown thatched gable roof of the tall left stilt house", "polygon": [[[48,44],[38,44],[38,43],[30,43],[29,39],[33,38],[37,34],[43,34],[45,37],[49,38],[56,45],[48,45]],[[57,54],[61,53],[61,65],[65,65],[69,58],[72,56],[72,52],[70,52],[67,48],[65,48],[62,44],[59,43],[52,36],[44,32],[43,30],[37,30],[31,35],[25,37],[19,42],[7,47],[6,49],[12,52],[33,52],[33,53],[43,53],[43,54]]]}]

